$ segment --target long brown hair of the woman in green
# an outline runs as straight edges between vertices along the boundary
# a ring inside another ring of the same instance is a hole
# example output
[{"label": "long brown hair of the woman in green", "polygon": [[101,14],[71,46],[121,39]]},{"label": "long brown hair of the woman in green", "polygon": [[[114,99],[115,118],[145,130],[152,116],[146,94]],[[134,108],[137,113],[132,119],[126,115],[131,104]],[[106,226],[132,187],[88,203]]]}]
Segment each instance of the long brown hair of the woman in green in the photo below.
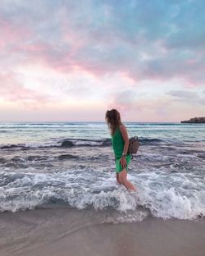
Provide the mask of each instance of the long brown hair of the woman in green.
[{"label": "long brown hair of the woman in green", "polygon": [[114,135],[116,129],[121,125],[121,114],[116,110],[107,110],[105,114],[107,126],[111,130],[111,134]]}]

